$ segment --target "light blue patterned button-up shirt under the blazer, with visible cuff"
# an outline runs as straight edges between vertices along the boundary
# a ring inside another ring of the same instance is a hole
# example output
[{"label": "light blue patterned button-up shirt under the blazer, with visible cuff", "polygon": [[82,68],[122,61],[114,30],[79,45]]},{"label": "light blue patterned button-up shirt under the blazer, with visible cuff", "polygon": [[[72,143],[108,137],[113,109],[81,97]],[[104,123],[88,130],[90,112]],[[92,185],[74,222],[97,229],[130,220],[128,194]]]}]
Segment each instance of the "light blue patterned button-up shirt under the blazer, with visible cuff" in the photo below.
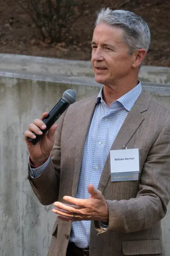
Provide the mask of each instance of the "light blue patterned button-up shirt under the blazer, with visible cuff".
[{"label": "light blue patterned button-up shirt under the blazer, with visible cuff", "polygon": [[[85,140],[76,198],[86,199],[90,197],[87,190],[89,183],[93,183],[97,189],[110,148],[128,112],[133,107],[141,92],[142,85],[139,82],[128,93],[115,102],[112,102],[109,108],[103,101],[102,89],[100,90]],[[38,177],[45,170],[48,162],[49,159],[43,166],[32,169],[31,176]],[[90,225],[91,221],[72,222],[70,241],[74,242],[80,248],[88,247]]]}]

